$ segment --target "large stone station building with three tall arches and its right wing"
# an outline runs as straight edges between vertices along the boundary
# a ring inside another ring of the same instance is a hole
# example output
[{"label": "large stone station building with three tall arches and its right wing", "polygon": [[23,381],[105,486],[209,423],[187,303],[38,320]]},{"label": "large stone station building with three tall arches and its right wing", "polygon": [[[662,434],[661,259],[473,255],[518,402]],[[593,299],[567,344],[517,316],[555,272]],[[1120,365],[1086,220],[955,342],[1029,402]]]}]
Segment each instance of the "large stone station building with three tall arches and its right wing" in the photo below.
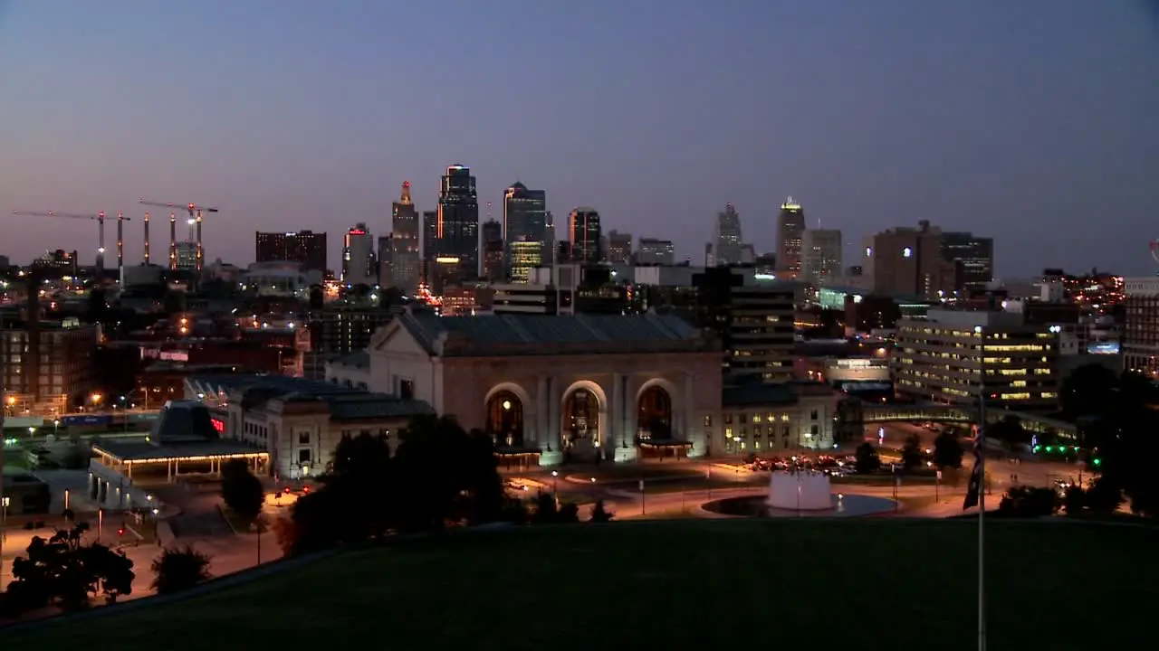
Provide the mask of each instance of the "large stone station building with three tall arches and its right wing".
[{"label": "large stone station building with three tall arches and its right wing", "polygon": [[719,339],[676,315],[408,310],[331,383],[429,404],[522,462],[772,453],[832,445],[818,383],[722,386]]}]

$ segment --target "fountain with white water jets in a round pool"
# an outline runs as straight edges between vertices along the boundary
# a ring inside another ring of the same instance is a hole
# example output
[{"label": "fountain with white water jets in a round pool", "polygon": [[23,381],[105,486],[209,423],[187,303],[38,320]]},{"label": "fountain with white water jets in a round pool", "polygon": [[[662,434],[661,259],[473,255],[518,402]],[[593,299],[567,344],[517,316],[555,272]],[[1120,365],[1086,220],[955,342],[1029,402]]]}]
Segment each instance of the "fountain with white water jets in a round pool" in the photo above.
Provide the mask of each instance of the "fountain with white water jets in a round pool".
[{"label": "fountain with white water jets in a round pool", "polygon": [[889,498],[869,495],[833,495],[829,475],[816,470],[778,470],[768,480],[765,496],[730,497],[709,502],[706,511],[745,518],[876,515],[897,509]]}]

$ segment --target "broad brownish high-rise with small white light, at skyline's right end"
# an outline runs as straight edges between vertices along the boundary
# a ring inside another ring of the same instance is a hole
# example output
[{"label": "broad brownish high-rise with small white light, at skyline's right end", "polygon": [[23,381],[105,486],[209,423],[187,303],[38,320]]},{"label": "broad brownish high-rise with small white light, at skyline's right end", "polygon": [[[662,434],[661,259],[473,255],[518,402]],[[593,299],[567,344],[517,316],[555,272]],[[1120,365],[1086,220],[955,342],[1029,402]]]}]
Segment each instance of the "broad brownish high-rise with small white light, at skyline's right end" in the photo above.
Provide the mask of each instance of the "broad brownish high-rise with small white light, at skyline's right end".
[{"label": "broad brownish high-rise with small white light, at skyline's right end", "polygon": [[887,297],[938,300],[953,291],[954,263],[942,257],[942,232],[928,221],[866,237],[866,288]]}]

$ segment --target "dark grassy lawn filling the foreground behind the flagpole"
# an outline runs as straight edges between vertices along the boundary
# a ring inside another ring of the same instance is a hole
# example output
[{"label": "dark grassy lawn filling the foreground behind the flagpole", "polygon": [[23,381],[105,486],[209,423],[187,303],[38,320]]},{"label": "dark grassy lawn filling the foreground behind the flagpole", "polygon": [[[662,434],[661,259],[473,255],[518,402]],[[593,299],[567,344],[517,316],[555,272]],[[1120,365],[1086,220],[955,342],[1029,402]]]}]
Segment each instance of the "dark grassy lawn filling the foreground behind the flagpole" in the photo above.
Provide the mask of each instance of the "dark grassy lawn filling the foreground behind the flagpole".
[{"label": "dark grassy lawn filling the foreground behind the flagpole", "polygon": [[[993,520],[986,531],[992,649],[1145,646],[1159,585],[1153,529]],[[461,533],[0,632],[0,645],[742,649],[755,631],[781,630],[809,631],[824,649],[968,650],[975,544],[971,522],[888,518]]]}]

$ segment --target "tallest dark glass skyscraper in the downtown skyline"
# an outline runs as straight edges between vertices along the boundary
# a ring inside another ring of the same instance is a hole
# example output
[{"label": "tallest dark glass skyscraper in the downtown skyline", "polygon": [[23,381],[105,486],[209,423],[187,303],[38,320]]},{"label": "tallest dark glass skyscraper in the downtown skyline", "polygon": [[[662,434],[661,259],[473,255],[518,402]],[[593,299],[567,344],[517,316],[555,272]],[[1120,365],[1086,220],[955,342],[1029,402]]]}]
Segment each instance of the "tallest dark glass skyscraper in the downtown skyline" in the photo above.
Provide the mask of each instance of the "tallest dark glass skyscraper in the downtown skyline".
[{"label": "tallest dark glass skyscraper in the downtown skyline", "polygon": [[439,183],[435,255],[458,258],[459,280],[479,277],[479,195],[471,169],[461,164],[446,168]]}]

